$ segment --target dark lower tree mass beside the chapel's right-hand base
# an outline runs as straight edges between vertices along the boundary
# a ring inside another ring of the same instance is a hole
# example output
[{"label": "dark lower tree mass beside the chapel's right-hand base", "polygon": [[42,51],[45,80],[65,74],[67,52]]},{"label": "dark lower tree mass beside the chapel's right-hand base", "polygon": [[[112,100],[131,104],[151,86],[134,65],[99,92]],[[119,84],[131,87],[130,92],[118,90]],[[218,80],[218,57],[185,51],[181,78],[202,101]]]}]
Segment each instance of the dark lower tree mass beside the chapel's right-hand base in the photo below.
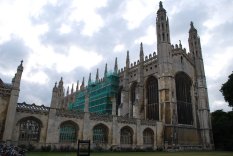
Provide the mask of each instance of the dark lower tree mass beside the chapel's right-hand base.
[{"label": "dark lower tree mass beside the chapel's right-hand base", "polygon": [[215,149],[233,151],[233,111],[216,110],[211,119]]}]

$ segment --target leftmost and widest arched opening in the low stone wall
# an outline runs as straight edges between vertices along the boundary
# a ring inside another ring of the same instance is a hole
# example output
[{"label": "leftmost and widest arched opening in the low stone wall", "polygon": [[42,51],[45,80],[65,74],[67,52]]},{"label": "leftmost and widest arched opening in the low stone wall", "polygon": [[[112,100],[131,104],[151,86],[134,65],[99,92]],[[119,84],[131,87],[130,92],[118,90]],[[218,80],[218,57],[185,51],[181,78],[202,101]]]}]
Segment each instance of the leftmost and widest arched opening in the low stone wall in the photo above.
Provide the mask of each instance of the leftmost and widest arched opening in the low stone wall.
[{"label": "leftmost and widest arched opening in the low stone wall", "polygon": [[41,124],[37,120],[22,119],[19,125],[19,141],[38,142],[40,140]]}]

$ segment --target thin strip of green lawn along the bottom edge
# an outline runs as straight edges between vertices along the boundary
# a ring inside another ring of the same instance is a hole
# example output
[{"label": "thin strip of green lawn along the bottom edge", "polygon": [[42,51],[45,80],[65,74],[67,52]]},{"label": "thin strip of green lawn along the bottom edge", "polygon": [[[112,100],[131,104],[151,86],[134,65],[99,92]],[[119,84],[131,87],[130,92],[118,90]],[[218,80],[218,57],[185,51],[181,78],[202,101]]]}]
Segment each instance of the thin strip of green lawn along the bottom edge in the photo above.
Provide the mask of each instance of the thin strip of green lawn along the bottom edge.
[{"label": "thin strip of green lawn along the bottom edge", "polygon": [[[71,152],[29,152],[26,156],[76,156]],[[91,156],[233,156],[233,152],[103,152]]]}]

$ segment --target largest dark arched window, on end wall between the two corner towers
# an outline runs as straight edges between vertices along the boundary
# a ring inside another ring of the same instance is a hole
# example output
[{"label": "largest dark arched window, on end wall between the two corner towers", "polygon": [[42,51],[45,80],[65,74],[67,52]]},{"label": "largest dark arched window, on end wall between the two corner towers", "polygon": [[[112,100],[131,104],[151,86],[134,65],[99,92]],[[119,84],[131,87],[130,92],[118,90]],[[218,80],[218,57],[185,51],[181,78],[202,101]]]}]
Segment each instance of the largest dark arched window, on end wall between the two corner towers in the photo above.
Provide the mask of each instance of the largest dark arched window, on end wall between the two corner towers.
[{"label": "largest dark arched window, on end wall between the two corner towers", "polygon": [[191,79],[184,73],[176,74],[176,99],[179,124],[193,124]]}]

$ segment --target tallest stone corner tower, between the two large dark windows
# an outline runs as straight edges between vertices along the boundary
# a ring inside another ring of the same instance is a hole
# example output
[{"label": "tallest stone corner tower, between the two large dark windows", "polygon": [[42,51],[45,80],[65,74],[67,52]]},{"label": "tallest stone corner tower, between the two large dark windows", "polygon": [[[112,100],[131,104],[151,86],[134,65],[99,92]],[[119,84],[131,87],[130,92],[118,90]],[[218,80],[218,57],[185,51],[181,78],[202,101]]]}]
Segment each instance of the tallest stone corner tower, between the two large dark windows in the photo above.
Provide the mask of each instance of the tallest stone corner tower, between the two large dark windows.
[{"label": "tallest stone corner tower, between the two large dark windows", "polygon": [[169,20],[162,2],[156,18],[157,51],[158,51],[158,89],[159,89],[159,120],[165,123],[164,140],[168,144],[174,142],[174,116],[176,105],[174,101],[174,73],[170,44]]}]

